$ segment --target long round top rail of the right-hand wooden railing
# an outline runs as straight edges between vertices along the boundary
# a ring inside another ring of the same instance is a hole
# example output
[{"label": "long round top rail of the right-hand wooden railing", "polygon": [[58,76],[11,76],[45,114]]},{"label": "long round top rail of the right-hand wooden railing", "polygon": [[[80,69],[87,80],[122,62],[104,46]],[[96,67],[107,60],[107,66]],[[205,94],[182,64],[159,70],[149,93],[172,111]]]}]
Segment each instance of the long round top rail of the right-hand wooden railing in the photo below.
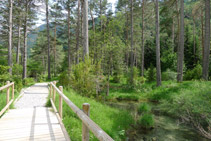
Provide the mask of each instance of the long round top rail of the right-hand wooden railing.
[{"label": "long round top rail of the right-hand wooden railing", "polygon": [[83,111],[81,111],[68,97],[66,97],[52,82],[51,85],[63,98],[67,105],[73,110],[73,112],[82,120],[82,122],[93,132],[93,134],[100,141],[113,141],[113,139],[103,131],[94,121],[92,121]]}]

